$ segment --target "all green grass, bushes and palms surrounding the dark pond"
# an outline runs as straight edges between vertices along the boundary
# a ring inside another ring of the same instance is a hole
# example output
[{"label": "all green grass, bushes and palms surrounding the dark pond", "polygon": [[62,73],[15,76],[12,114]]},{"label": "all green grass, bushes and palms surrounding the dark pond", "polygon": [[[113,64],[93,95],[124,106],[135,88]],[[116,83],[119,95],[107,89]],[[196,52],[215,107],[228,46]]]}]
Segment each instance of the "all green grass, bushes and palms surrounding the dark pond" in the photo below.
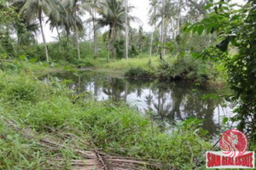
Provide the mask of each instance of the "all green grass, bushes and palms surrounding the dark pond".
[{"label": "all green grass, bushes and palms surrounding the dark pond", "polygon": [[[210,144],[201,121],[177,122],[172,134],[163,133],[122,102],[75,94],[50,77],[38,80],[46,72],[76,69],[212,88],[224,84],[236,109],[223,122],[237,122],[255,150],[255,1],[149,3],[153,29],[145,32],[128,0],[0,0],[1,169],[73,168],[84,156],[77,150],[92,149],[147,161],[148,168],[204,167]],[[57,32],[56,41],[46,39],[46,24]],[[45,148],[42,139],[61,148]],[[56,158],[63,164],[54,167]]]}]

